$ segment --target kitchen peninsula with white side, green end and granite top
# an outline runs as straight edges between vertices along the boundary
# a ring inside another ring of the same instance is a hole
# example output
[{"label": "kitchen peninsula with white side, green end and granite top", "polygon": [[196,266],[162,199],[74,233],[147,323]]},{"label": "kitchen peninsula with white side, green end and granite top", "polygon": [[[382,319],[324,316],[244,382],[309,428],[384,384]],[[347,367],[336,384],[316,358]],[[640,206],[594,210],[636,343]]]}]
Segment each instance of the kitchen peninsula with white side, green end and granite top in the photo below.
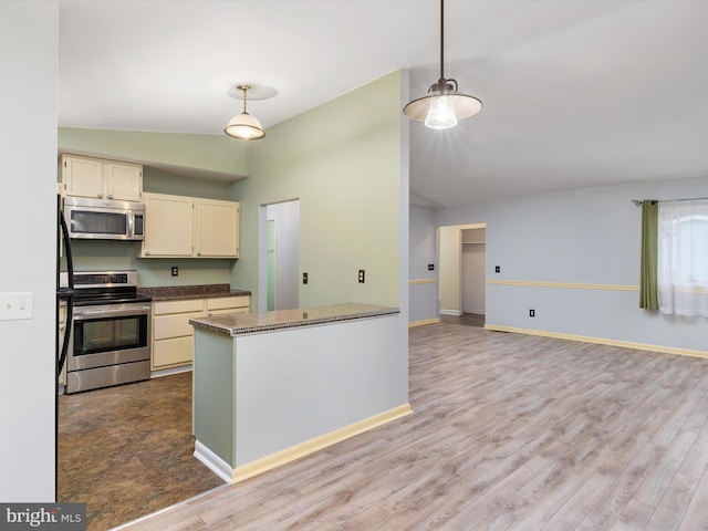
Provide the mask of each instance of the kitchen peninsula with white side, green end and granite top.
[{"label": "kitchen peninsula with white side, green end and granite top", "polygon": [[236,483],[412,413],[396,319],[357,303],[191,319],[195,456]]}]

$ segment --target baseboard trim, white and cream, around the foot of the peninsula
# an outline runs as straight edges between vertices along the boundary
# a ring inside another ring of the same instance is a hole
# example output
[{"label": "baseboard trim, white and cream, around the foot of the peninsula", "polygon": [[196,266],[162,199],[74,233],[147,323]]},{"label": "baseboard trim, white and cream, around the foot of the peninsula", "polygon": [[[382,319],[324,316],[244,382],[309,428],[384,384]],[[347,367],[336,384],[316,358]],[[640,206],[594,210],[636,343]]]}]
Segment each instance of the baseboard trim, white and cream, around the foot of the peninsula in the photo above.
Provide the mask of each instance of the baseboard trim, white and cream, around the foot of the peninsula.
[{"label": "baseboard trim, white and cream, around the foot of the peninsula", "polygon": [[236,468],[231,468],[229,464],[199,441],[195,442],[195,457],[227,483],[233,485],[403,418],[412,413],[410,404],[404,404]]}]

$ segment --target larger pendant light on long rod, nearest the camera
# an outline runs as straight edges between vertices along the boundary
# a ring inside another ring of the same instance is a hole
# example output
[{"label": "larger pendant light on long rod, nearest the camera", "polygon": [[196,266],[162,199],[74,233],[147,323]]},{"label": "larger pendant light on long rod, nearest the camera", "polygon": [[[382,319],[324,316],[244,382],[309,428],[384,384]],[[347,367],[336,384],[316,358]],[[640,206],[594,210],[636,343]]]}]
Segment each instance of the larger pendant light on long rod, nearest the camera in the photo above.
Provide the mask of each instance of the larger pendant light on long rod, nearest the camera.
[{"label": "larger pendant light on long rod, nearest the camera", "polygon": [[445,7],[440,0],[440,79],[428,88],[426,96],[412,101],[403,107],[403,113],[412,119],[425,122],[431,129],[455,127],[457,121],[472,116],[482,108],[482,102],[475,96],[458,92],[457,81],[445,79]]}]

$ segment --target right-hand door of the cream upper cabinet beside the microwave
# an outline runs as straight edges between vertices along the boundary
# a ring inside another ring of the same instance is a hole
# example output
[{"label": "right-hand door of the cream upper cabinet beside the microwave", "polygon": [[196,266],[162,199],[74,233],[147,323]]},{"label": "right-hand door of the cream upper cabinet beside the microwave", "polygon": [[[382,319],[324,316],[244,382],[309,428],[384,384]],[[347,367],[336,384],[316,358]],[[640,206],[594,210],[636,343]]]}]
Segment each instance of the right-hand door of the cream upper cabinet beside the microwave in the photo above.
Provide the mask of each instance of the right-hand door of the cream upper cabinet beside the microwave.
[{"label": "right-hand door of the cream upper cabinet beside the microwave", "polygon": [[238,258],[240,205],[197,199],[197,256]]}]

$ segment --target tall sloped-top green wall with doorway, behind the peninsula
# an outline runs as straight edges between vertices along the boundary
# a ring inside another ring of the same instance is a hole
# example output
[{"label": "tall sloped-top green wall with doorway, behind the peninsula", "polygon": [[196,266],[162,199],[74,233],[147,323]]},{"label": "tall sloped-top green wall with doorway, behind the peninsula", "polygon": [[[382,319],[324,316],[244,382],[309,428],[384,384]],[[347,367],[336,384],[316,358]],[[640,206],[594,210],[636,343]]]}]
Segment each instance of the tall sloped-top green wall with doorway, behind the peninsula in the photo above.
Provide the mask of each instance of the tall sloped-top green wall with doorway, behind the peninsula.
[{"label": "tall sloped-top green wall with doorway, behind the peninsula", "polygon": [[254,306],[260,208],[291,199],[300,199],[300,272],[309,273],[301,308],[400,305],[400,86],[402,73],[391,73],[270,127],[253,144],[251,177],[232,185],[242,252],[231,283],[249,287]]}]

